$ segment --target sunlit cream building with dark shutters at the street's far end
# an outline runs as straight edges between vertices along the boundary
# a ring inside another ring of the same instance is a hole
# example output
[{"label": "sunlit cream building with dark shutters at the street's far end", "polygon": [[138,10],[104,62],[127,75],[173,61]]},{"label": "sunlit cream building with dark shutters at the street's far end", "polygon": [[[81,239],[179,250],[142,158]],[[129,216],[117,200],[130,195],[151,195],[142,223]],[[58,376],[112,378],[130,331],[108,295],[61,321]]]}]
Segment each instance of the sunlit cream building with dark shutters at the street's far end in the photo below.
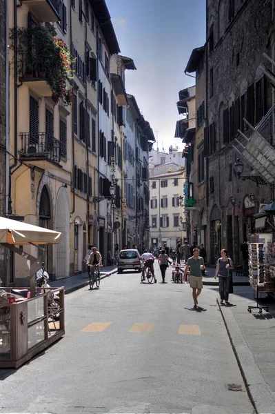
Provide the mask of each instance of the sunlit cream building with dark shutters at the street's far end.
[{"label": "sunlit cream building with dark shutters at the street's far end", "polygon": [[[169,164],[167,164],[169,166]],[[186,240],[186,221],[181,195],[186,180],[185,169],[150,175],[150,248],[175,248],[177,240]]]}]

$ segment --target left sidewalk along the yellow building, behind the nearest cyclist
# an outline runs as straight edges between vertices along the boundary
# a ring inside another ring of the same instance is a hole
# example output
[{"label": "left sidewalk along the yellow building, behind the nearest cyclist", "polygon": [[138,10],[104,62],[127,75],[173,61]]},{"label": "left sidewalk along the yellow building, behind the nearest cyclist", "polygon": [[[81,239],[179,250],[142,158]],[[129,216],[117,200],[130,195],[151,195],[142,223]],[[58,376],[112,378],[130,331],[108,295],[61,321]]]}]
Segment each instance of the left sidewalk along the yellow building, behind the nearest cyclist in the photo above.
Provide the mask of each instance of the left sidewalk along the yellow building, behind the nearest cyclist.
[{"label": "left sidewalk along the yellow building, behind the nearest cyclist", "polygon": [[[103,268],[101,268],[101,279],[113,275],[116,272],[116,266],[104,266]],[[50,286],[52,288],[60,288],[61,286],[64,286],[65,295],[73,292],[74,290],[83,288],[88,284],[89,277],[87,272],[81,273],[80,275],[65,277],[64,279],[54,280],[54,282],[50,282]]]}]

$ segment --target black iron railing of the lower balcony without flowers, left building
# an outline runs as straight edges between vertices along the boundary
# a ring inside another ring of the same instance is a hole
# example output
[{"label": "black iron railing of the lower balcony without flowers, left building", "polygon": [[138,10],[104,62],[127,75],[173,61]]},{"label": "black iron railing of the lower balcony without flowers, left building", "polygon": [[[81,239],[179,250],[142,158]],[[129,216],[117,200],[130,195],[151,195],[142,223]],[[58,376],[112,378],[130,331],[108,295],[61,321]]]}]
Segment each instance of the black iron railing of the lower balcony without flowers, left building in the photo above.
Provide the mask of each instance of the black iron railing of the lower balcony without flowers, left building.
[{"label": "black iron railing of the lower balcony without flowers, left building", "polygon": [[46,132],[33,134],[21,132],[21,157],[45,159],[59,163],[61,159],[60,141]]}]

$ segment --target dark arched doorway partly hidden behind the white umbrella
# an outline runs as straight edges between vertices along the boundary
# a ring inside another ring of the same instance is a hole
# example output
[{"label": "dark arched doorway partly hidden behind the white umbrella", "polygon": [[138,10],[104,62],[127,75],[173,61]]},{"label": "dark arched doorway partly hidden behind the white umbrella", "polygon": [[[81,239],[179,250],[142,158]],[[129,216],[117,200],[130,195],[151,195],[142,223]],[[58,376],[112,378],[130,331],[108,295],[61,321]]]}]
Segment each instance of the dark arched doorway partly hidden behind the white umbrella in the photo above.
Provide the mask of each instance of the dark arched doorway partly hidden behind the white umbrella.
[{"label": "dark arched doorway partly hidden behind the white umbrella", "polygon": [[[48,192],[47,186],[43,186],[40,196],[40,203],[39,203],[39,227],[52,228],[52,203],[50,201],[50,195]],[[45,248],[45,268],[52,279],[52,275],[54,273],[53,268],[53,255],[52,255],[52,245],[47,244],[44,245]]]}]

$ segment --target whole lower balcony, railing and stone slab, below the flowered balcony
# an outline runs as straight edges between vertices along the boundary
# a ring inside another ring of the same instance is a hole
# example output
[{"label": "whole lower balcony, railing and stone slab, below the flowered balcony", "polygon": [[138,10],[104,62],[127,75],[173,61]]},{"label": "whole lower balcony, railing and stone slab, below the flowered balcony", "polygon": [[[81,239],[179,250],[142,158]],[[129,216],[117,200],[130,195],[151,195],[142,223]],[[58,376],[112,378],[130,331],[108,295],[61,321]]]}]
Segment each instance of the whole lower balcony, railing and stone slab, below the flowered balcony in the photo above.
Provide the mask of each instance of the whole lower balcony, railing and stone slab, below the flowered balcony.
[{"label": "whole lower balcony, railing and stone slab, below the flowered balcony", "polygon": [[46,132],[31,134],[21,132],[21,150],[19,155],[21,161],[43,169],[61,168],[61,143],[58,139],[48,135]]}]

